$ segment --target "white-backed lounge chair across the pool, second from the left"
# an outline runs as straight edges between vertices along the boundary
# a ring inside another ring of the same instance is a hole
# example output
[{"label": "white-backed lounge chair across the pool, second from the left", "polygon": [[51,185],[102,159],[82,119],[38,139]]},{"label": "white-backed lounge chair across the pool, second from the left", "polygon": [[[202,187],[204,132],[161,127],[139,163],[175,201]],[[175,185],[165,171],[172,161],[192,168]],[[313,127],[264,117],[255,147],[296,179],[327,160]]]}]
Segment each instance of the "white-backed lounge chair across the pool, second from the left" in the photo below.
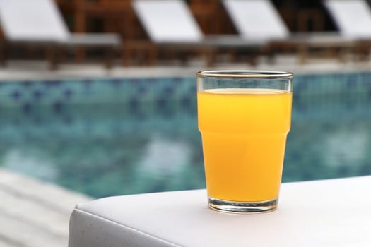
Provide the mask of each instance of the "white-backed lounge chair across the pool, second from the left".
[{"label": "white-backed lounge chair across the pool, second from the left", "polygon": [[132,4],[156,47],[201,52],[206,56],[208,65],[213,63],[213,55],[219,49],[249,49],[259,52],[265,45],[261,40],[242,40],[237,36],[205,36],[183,0],[135,0]]}]

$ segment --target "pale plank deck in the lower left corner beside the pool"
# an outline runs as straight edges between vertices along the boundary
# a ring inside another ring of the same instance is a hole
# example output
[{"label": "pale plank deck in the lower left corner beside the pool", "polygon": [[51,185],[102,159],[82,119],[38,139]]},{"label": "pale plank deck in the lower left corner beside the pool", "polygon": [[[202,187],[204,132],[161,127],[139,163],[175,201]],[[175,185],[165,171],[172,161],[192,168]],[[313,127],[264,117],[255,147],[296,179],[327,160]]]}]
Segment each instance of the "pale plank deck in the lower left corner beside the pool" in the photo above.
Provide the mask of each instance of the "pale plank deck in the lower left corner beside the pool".
[{"label": "pale plank deck in the lower left corner beside the pool", "polygon": [[86,195],[0,169],[0,247],[67,246],[69,216]]}]

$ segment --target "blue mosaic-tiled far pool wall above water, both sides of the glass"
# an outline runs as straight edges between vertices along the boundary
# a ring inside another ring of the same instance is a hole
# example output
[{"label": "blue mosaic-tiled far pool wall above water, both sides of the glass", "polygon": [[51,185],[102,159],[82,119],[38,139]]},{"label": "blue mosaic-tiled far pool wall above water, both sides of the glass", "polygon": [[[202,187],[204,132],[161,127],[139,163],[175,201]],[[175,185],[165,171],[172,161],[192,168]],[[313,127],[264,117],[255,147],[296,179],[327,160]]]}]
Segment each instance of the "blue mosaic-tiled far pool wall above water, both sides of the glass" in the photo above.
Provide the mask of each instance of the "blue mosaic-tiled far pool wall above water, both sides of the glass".
[{"label": "blue mosaic-tiled far pool wall above water, both sides of the glass", "polygon": [[[294,101],[326,104],[326,95],[354,104],[371,97],[371,72],[295,75]],[[129,108],[181,104],[194,107],[194,77],[80,78],[66,80],[0,80],[0,107],[29,111],[45,105],[61,109],[75,104],[124,103]]]}]

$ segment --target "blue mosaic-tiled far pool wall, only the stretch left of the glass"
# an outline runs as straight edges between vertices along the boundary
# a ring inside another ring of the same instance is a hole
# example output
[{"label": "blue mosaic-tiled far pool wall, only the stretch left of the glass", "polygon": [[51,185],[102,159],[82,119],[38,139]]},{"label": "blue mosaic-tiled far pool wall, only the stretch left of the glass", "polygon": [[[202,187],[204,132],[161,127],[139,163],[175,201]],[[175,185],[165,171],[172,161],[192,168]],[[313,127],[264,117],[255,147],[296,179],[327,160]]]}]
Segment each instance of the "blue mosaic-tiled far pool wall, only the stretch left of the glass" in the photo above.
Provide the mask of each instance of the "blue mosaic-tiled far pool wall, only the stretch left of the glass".
[{"label": "blue mosaic-tiled far pool wall, only the stretch left of the glass", "polygon": [[194,78],[81,78],[66,80],[0,81],[1,106],[28,108],[32,105],[127,103],[136,107],[143,102],[195,99]]}]

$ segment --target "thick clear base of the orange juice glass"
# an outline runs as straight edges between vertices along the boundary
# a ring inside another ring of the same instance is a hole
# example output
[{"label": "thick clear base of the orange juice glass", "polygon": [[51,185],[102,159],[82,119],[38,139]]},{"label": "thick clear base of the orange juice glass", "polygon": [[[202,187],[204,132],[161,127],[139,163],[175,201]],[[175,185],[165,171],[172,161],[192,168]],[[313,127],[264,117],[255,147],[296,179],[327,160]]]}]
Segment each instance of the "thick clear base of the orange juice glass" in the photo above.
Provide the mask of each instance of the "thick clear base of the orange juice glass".
[{"label": "thick clear base of the orange juice glass", "polygon": [[215,198],[208,198],[208,207],[220,212],[232,213],[259,213],[271,212],[277,208],[277,199],[264,200],[261,202],[237,202],[232,200],[220,200]]}]

